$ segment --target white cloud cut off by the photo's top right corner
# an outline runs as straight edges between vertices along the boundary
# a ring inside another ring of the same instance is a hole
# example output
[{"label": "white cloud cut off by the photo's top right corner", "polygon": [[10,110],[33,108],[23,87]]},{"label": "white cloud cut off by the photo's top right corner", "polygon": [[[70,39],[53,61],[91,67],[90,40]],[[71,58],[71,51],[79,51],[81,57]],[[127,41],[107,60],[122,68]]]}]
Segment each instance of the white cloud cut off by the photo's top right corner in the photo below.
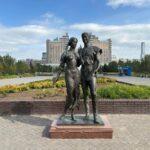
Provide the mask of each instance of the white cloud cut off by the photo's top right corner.
[{"label": "white cloud cut off by the photo's top right corner", "polygon": [[117,8],[119,6],[143,7],[150,5],[150,0],[108,0],[107,5]]}]

